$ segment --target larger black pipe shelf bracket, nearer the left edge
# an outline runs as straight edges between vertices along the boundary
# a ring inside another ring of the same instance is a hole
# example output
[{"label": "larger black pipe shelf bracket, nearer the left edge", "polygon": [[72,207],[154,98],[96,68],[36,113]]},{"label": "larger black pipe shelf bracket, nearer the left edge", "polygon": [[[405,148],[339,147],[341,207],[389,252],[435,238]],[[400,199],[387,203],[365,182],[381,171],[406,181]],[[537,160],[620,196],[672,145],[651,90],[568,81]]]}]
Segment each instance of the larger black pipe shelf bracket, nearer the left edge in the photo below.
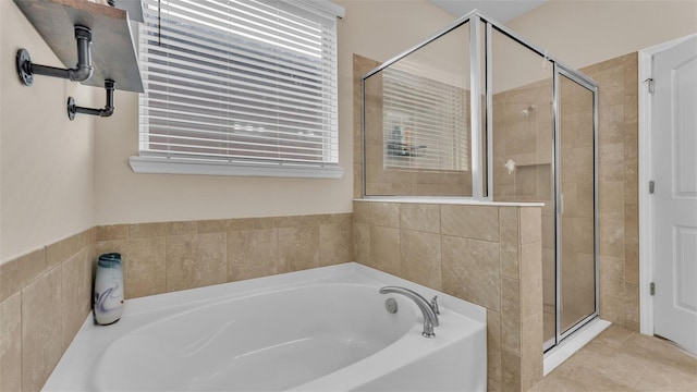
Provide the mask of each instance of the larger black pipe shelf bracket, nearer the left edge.
[{"label": "larger black pipe shelf bracket, nearer the left edge", "polygon": [[59,69],[54,66],[40,65],[32,62],[29,52],[26,49],[17,50],[16,66],[20,79],[25,86],[34,83],[34,75],[45,75],[71,79],[72,82],[84,82],[91,77],[91,30],[89,27],[75,25],[75,40],[77,41],[77,65],[73,69]]}]

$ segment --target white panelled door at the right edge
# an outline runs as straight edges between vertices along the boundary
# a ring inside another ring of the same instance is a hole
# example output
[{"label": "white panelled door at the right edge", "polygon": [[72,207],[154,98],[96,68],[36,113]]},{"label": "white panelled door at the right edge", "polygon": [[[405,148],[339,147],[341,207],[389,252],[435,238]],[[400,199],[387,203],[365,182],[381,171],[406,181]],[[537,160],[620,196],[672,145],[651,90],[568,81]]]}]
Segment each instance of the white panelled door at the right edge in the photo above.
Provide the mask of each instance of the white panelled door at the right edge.
[{"label": "white panelled door at the right edge", "polygon": [[653,333],[697,354],[697,37],[653,56]]}]

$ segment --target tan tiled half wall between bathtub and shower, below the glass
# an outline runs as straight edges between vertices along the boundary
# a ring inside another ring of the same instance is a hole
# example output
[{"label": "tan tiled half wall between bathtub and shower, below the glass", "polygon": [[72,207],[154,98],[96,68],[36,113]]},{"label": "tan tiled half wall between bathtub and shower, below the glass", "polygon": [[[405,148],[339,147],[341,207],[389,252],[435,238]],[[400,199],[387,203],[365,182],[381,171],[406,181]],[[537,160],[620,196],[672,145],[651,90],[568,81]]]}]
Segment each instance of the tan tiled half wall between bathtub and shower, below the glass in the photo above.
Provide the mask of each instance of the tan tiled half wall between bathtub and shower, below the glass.
[{"label": "tan tiled half wall between bathtub and shower, below the glass", "polygon": [[489,391],[542,378],[541,208],[354,201],[357,262],[487,308]]}]

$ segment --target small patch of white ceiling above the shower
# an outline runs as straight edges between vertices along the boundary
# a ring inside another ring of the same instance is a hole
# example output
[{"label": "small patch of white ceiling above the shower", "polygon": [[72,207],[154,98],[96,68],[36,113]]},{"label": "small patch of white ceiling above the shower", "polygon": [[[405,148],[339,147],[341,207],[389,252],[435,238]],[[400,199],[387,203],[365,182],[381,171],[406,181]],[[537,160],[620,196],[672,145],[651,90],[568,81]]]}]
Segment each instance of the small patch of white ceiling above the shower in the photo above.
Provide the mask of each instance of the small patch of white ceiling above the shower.
[{"label": "small patch of white ceiling above the shower", "polygon": [[429,0],[445,12],[462,16],[472,10],[500,23],[508,23],[540,5],[548,0]]}]

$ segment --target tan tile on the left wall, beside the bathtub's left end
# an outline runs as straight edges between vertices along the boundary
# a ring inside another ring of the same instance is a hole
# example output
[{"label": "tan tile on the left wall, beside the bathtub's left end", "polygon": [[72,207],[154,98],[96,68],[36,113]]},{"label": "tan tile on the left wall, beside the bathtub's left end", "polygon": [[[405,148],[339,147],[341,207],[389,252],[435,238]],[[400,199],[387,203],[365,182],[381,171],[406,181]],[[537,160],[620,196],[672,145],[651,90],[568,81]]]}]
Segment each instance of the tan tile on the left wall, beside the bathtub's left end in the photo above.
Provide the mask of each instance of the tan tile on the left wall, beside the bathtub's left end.
[{"label": "tan tile on the left wall, beside the bathtub's left end", "polygon": [[91,307],[95,230],[0,265],[0,391],[38,391]]}]

